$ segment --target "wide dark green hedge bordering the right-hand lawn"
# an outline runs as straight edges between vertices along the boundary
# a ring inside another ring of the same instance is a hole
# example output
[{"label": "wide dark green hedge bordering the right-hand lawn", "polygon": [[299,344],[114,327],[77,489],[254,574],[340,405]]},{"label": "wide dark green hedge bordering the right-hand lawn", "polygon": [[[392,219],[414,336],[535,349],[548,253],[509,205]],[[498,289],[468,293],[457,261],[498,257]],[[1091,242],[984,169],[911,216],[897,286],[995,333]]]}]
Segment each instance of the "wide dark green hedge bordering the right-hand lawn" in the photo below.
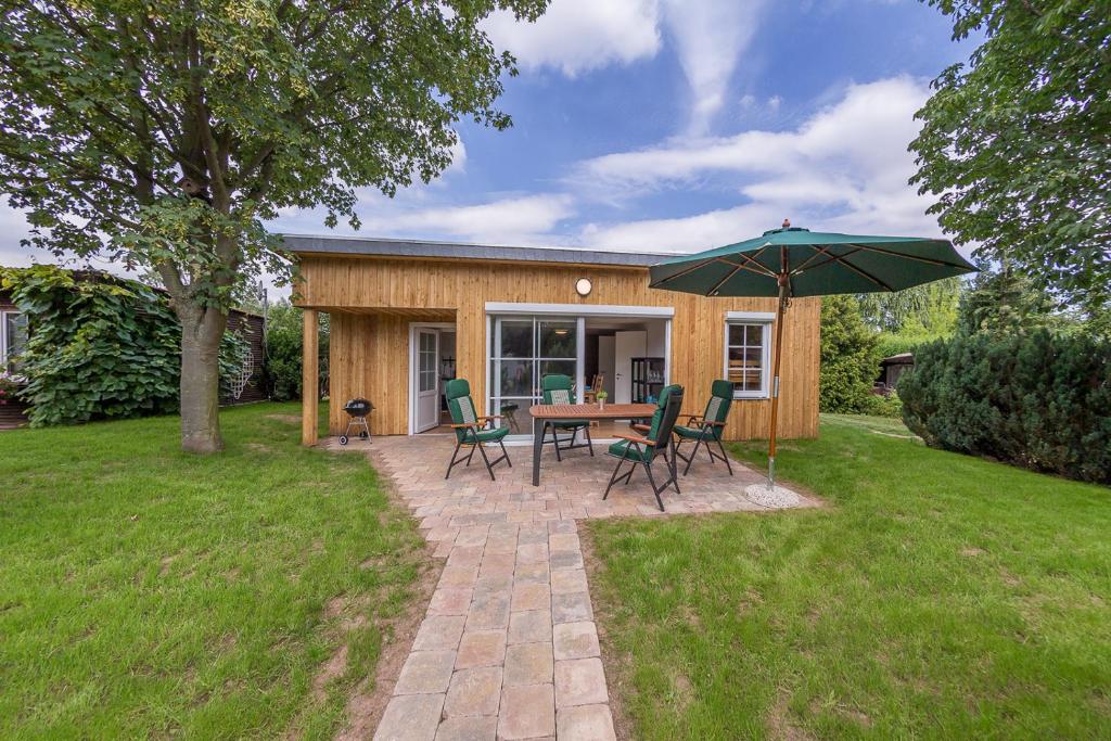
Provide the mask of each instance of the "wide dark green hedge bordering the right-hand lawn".
[{"label": "wide dark green hedge bordering the right-hand lawn", "polygon": [[978,332],[922,346],[899,379],[928,444],[1111,483],[1111,344],[1089,334]]}]

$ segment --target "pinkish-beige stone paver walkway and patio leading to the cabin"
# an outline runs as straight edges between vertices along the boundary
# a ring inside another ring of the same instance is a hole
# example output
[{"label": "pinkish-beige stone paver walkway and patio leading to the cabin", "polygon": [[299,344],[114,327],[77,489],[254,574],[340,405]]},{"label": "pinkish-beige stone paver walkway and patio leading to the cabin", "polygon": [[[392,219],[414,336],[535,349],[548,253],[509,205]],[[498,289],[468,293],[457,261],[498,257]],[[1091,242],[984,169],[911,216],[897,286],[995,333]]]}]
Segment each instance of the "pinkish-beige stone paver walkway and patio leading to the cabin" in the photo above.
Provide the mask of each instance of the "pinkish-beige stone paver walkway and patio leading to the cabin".
[{"label": "pinkish-beige stone paver walkway and patio leading to the cabin", "polygon": [[[643,472],[603,502],[615,463],[604,444],[562,463],[546,450],[540,487],[532,449],[513,447],[497,481],[481,462],[444,481],[453,444],[421,435],[347,448],[369,451],[448,560],[374,739],[613,739],[577,520],[663,515]],[[682,494],[663,495],[667,514],[764,510],[743,494],[761,477],[733,465],[729,477],[697,461]]]}]

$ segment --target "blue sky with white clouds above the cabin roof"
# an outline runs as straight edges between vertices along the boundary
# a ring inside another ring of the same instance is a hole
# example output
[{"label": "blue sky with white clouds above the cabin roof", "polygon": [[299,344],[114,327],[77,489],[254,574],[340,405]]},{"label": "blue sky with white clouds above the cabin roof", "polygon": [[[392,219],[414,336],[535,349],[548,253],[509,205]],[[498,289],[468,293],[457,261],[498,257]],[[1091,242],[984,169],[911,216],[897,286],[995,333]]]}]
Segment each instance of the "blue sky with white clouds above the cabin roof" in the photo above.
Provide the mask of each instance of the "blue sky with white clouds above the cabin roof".
[{"label": "blue sky with white clouds above the cabin roof", "polygon": [[[934,236],[907,179],[928,83],[971,43],[917,0],[553,0],[489,20],[519,59],[504,132],[460,124],[456,162],[388,199],[364,236],[691,251],[778,227]],[[0,210],[0,263],[18,247]],[[323,213],[271,228],[328,233]],[[346,226],[332,233],[353,233]]]}]

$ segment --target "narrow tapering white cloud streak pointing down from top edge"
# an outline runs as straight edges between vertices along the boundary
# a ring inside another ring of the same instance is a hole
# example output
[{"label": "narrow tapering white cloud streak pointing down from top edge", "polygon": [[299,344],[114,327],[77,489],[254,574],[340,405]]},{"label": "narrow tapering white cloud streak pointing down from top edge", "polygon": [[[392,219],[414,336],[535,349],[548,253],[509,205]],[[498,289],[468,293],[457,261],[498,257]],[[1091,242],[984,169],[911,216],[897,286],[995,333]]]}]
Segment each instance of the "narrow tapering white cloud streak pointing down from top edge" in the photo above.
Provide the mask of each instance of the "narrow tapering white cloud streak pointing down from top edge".
[{"label": "narrow tapering white cloud streak pointing down from top edge", "polygon": [[764,0],[663,0],[691,92],[690,130],[704,133],[755,36]]}]

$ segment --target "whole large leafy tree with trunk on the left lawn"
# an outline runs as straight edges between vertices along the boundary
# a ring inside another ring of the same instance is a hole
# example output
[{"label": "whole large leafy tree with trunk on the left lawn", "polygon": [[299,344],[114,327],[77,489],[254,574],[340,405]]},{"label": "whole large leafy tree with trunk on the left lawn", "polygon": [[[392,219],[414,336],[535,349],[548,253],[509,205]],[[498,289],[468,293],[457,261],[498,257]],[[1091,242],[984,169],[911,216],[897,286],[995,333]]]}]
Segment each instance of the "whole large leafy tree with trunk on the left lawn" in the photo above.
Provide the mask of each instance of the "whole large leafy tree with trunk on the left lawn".
[{"label": "whole large leafy tree with trunk on the left lawn", "polygon": [[220,447],[216,352],[247,276],[282,273],[263,222],[451,161],[503,129],[516,72],[480,27],[547,0],[3,0],[0,180],[29,241],[153,270],[182,324],[182,440]]}]

